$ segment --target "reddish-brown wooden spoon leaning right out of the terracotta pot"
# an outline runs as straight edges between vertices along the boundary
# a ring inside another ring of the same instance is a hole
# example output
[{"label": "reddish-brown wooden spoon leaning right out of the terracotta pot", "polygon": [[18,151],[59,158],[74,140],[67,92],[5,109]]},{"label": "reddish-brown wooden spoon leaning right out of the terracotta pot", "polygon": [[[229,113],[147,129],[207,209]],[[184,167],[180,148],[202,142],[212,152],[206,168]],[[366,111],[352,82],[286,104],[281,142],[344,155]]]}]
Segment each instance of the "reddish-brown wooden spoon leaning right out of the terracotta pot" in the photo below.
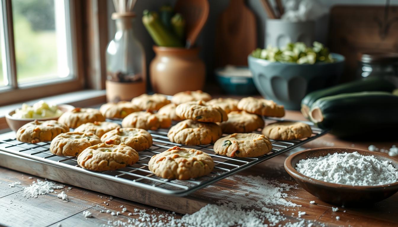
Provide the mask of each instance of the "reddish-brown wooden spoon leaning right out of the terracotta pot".
[{"label": "reddish-brown wooden spoon leaning right out of the terracotta pot", "polygon": [[209,2],[207,0],[178,0],[174,10],[185,19],[187,37],[185,47],[190,48],[195,45],[196,38],[209,16]]}]

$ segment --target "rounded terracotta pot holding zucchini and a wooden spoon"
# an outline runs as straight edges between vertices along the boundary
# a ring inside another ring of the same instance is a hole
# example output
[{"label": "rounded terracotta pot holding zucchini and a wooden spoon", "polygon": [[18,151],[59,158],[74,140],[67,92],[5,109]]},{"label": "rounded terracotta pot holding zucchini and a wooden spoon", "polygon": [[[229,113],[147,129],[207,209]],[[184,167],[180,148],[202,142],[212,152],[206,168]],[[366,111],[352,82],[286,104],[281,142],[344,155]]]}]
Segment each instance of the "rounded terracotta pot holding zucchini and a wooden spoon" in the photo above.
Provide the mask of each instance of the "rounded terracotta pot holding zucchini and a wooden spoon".
[{"label": "rounded terracotta pot holding zucchini and a wooden spoon", "polygon": [[174,95],[196,91],[205,84],[205,64],[199,49],[154,46],[155,58],[150,63],[150,81],[156,93]]}]

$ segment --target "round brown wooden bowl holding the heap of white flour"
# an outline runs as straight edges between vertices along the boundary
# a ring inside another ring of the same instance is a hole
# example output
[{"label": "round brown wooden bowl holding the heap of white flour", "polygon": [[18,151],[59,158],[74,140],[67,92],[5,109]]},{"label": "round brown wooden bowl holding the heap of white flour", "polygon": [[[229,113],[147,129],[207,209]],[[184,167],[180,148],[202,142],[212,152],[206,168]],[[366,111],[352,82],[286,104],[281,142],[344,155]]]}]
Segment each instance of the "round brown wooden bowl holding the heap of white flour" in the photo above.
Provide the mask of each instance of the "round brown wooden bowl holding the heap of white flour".
[{"label": "round brown wooden bowl holding the heap of white flour", "polygon": [[285,169],[307,192],[324,202],[338,206],[358,206],[375,203],[395,194],[398,191],[398,182],[378,186],[334,184],[307,177],[298,173],[295,169],[297,163],[302,159],[325,156],[328,153],[353,153],[355,151],[365,156],[374,155],[380,161],[390,161],[398,169],[398,161],[386,154],[344,147],[314,148],[294,153],[285,160]]}]

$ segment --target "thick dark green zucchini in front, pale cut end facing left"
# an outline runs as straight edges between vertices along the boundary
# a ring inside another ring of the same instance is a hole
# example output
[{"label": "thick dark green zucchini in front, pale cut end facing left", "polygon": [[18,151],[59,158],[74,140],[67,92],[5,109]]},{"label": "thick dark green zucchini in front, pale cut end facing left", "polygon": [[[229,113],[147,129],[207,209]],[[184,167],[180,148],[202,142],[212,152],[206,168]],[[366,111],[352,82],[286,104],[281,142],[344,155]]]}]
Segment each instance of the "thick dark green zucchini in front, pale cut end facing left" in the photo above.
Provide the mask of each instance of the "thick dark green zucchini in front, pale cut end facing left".
[{"label": "thick dark green zucchini in front, pale cut end facing left", "polygon": [[398,96],[365,91],[323,97],[312,104],[309,116],[316,126],[342,138],[397,136]]}]

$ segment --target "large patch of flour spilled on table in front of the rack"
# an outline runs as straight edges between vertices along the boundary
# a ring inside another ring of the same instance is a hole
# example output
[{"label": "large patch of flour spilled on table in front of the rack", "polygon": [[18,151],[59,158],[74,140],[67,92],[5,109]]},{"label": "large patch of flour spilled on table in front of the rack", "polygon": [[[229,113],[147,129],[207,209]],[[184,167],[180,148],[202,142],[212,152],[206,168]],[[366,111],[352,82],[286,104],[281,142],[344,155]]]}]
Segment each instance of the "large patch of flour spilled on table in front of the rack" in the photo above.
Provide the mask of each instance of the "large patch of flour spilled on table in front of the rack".
[{"label": "large patch of flour spilled on table in front of the rack", "polygon": [[[134,209],[129,213],[135,218],[126,216],[127,221],[108,221],[103,226],[125,226],[125,227],[304,227],[312,226],[313,222],[298,218],[298,222],[287,222],[283,216],[283,209],[286,207],[297,208],[300,205],[291,202],[286,191],[296,186],[281,183],[277,180],[266,180],[260,176],[235,175],[230,180],[240,180],[244,183],[235,185],[233,190],[220,192],[218,204],[207,204],[199,211],[179,218],[174,212],[159,213],[156,209],[144,210]],[[212,187],[212,186],[210,186]],[[203,189],[205,193],[205,189]],[[282,210],[279,211],[278,208]],[[304,215],[305,212],[299,212]],[[111,215],[115,215],[112,213]],[[286,223],[287,222],[287,223]],[[265,224],[268,223],[268,224]],[[322,223],[317,225],[324,226]]]}]

